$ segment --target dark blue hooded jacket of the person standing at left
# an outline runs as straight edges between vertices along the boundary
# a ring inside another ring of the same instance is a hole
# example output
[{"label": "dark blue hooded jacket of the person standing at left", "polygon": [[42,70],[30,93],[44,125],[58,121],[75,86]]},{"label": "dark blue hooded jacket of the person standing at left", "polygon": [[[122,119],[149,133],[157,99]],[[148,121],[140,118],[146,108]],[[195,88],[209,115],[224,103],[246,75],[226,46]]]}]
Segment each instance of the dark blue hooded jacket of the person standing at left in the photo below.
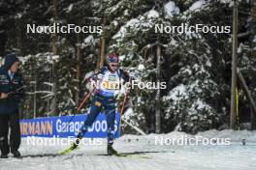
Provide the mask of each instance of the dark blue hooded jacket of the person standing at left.
[{"label": "dark blue hooded jacket of the person standing at left", "polygon": [[16,114],[20,99],[24,96],[23,79],[20,73],[16,72],[13,79],[8,73],[11,66],[18,59],[15,54],[7,55],[5,64],[0,68],[0,93],[12,93],[7,99],[0,99],[0,115]]}]

